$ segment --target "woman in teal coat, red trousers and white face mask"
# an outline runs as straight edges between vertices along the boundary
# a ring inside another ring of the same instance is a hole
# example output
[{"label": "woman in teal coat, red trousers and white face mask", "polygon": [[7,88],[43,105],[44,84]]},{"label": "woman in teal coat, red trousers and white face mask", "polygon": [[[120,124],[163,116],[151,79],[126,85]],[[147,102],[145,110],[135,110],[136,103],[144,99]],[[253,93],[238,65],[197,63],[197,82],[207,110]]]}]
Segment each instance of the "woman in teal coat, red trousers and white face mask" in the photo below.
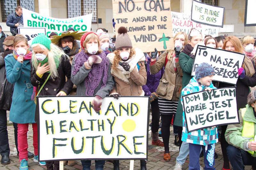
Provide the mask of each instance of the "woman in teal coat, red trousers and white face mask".
[{"label": "woman in teal coat, red trousers and white face mask", "polygon": [[[34,161],[38,162],[37,124],[35,122],[36,105],[30,100],[33,86],[30,83],[30,59],[28,41],[23,35],[13,40],[13,54],[5,56],[6,78],[14,84],[10,121],[18,123],[18,150],[20,170],[28,170],[28,124],[33,127]],[[39,162],[45,165],[45,162]]]}]

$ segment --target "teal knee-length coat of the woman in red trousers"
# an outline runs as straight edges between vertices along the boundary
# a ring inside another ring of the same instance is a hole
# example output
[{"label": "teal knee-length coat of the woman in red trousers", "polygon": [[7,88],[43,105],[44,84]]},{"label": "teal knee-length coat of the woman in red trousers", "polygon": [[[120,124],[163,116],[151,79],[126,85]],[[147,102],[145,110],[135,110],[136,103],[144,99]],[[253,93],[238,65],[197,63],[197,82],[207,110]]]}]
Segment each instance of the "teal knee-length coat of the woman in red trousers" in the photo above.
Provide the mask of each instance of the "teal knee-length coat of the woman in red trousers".
[{"label": "teal knee-length coat of the woman in red trousers", "polygon": [[10,121],[14,123],[35,123],[36,104],[31,100],[33,86],[30,83],[30,60],[18,62],[12,54],[5,56],[7,80],[14,84]]}]

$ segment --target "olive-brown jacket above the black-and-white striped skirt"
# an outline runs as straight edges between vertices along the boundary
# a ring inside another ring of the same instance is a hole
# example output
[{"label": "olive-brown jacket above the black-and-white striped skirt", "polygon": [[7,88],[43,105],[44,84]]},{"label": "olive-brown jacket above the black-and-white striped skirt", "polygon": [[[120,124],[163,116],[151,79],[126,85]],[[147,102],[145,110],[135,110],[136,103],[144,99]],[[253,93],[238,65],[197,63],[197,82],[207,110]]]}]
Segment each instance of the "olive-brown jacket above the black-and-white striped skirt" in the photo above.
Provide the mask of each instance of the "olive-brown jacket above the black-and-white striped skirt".
[{"label": "olive-brown jacket above the black-and-white striped skirt", "polygon": [[[159,70],[164,67],[165,58],[168,54],[168,51],[165,51],[161,54],[156,61],[156,63],[150,66],[151,74],[156,74]],[[159,97],[178,101],[180,97],[180,92],[182,89],[182,70],[180,69],[180,65],[176,63],[177,71],[175,72],[173,66],[173,58],[171,56],[170,60],[167,61],[164,69],[164,75],[160,79],[160,83],[156,90],[156,93]]]}]

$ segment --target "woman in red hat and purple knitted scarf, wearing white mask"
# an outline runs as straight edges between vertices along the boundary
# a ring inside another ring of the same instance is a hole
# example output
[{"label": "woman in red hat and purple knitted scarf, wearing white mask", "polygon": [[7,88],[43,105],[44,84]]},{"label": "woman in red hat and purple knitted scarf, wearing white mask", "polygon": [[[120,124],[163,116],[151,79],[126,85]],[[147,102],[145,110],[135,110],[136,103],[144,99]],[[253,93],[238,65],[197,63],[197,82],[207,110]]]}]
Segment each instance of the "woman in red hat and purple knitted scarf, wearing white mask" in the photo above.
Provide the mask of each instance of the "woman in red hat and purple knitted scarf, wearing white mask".
[{"label": "woman in red hat and purple knitted scarf, wearing white mask", "polygon": [[[100,111],[102,99],[113,89],[114,80],[110,73],[110,63],[100,49],[100,40],[96,33],[87,32],[81,38],[82,51],[72,63],[71,81],[77,85],[77,96],[95,96],[92,105]],[[83,170],[90,169],[91,160],[81,160]],[[104,160],[95,161],[95,169],[103,169]]]}]

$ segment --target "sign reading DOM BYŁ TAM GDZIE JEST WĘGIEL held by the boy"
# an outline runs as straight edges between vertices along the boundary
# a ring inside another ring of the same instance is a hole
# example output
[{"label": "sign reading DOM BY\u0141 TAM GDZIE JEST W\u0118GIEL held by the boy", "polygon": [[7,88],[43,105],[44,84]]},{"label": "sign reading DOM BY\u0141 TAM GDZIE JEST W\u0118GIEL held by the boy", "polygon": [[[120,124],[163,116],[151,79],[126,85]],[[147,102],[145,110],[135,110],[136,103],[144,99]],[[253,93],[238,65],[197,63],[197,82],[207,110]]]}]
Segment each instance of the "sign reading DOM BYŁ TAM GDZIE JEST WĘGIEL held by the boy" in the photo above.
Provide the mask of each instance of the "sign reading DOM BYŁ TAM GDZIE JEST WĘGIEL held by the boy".
[{"label": "sign reading DOM BY\u0141 TAM GDZIE JEST W\u0118GIEL held by the boy", "polygon": [[239,123],[236,87],[191,93],[182,101],[188,132]]}]

